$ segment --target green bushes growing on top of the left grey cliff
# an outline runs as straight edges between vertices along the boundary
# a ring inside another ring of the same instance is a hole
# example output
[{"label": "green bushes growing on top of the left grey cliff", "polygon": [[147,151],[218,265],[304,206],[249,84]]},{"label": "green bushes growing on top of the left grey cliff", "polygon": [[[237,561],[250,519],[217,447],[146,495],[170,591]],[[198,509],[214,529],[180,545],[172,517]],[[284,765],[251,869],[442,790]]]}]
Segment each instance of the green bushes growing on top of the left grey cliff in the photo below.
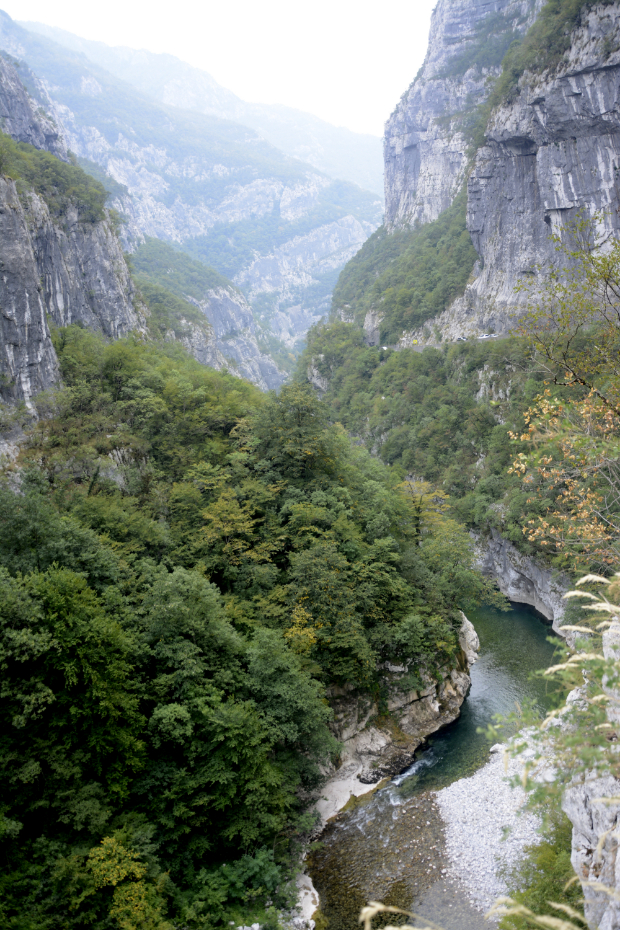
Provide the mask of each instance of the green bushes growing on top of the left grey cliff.
[{"label": "green bushes growing on top of the left grey cliff", "polygon": [[105,218],[107,193],[77,162],[67,164],[0,132],[0,172],[17,181],[21,191],[32,189],[40,194],[53,217],[75,206],[80,222],[97,223]]}]

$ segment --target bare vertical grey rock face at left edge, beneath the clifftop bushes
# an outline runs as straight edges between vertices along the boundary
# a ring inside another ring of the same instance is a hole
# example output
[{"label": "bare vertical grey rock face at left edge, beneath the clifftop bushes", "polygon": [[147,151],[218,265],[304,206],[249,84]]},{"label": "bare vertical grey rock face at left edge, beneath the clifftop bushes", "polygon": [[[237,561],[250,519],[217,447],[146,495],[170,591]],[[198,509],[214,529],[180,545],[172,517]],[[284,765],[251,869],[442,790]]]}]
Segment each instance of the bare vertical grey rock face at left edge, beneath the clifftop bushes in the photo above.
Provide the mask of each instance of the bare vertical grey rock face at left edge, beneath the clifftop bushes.
[{"label": "bare vertical grey rock face at left edge, beneath the clifftop bushes", "polygon": [[52,387],[58,365],[47,316],[118,338],[143,329],[120,244],[107,221],[54,222],[43,200],[20,199],[0,177],[0,396],[25,401]]}]

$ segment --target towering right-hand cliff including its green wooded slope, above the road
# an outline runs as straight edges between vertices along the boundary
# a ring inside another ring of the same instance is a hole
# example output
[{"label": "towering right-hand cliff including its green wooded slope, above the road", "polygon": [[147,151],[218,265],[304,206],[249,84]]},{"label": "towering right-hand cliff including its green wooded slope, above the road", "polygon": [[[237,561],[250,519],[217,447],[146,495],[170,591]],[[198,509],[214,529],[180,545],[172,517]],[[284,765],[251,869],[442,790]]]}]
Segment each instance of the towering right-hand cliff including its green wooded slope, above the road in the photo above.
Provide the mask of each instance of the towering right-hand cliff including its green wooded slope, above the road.
[{"label": "towering right-hand cliff including its green wooded slope, above the road", "polygon": [[615,2],[438,3],[386,124],[385,231],[343,272],[334,316],[391,344],[506,333],[523,283],[561,260],[553,234],[577,215],[614,234],[619,49]]}]

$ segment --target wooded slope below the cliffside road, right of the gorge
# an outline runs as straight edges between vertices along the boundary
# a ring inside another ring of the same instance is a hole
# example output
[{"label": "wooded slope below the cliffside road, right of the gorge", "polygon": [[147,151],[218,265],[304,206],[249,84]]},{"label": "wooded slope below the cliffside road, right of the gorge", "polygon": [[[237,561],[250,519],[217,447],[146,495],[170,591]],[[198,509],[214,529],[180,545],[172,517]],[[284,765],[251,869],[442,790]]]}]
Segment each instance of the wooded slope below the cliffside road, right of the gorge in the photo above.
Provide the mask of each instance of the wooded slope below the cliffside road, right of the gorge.
[{"label": "wooded slope below the cliffside road, right of the gorge", "polygon": [[[519,339],[393,351],[366,346],[347,323],[317,326],[300,362],[328,384],[325,402],[347,430],[402,474],[424,478],[450,495],[453,514],[469,526],[497,527],[522,549],[529,517],[550,500],[532,500],[509,474],[522,446],[527,406],[543,389]],[[491,382],[493,390],[484,390]],[[482,397],[477,398],[481,391]]]}]

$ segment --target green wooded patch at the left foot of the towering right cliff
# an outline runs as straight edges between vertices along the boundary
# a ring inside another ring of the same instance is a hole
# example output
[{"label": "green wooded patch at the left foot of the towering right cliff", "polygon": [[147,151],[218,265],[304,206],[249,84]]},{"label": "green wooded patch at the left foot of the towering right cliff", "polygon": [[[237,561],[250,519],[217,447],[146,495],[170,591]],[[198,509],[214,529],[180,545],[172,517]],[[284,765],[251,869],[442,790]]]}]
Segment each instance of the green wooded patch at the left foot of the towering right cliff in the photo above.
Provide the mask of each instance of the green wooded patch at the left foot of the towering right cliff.
[{"label": "green wooded patch at the left foot of the towering right cliff", "polygon": [[381,313],[381,340],[437,316],[460,294],[477,255],[465,227],[466,191],[432,223],[388,234],[382,227],[345,266],[332,307],[362,322]]}]

